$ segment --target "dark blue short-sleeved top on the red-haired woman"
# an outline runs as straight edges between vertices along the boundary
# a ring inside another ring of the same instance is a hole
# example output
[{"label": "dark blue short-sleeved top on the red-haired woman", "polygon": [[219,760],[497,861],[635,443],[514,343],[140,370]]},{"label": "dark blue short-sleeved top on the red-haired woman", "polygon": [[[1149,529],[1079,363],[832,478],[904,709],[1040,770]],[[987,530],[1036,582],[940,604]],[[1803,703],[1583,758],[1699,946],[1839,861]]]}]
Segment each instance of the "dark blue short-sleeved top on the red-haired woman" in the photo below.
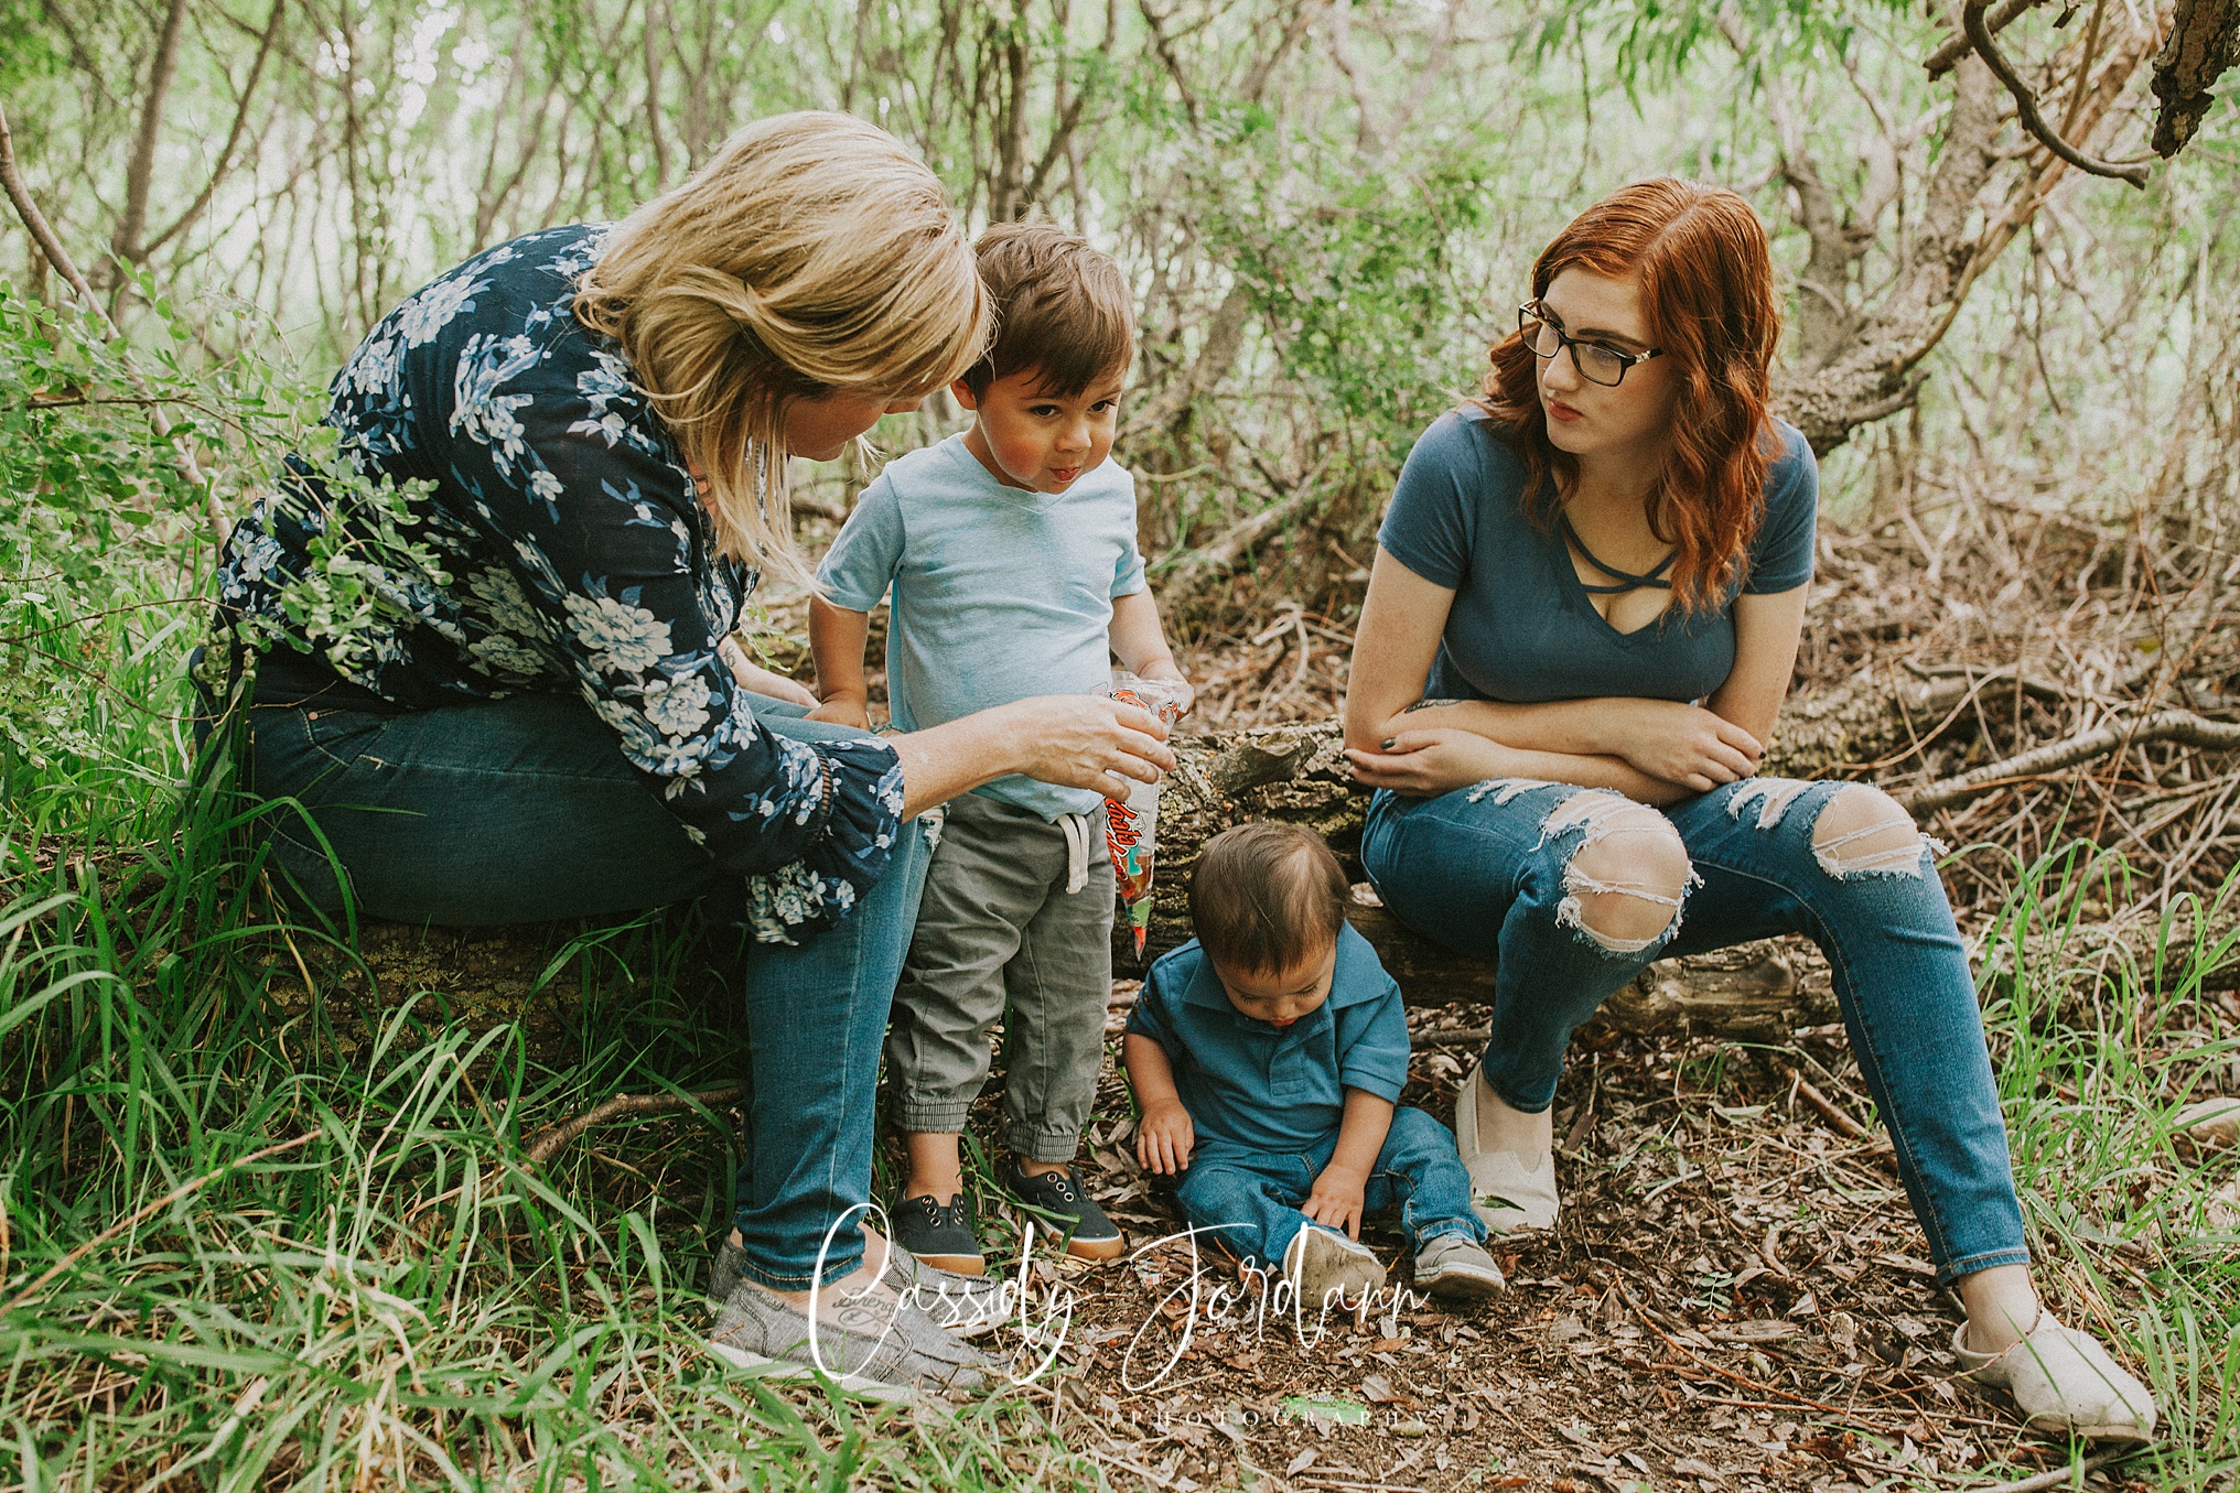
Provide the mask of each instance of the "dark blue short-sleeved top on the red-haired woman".
[{"label": "dark blue short-sleeved top on the red-haired woman", "polygon": [[[1794,591],[1812,580],[1819,468],[1803,432],[1776,428],[1785,450],[1765,472],[1765,522],[1736,591]],[[1456,593],[1425,698],[1700,701],[1727,680],[1734,593],[1716,611],[1673,604],[1622,633],[1595,611],[1564,535],[1534,528],[1523,499],[1523,461],[1472,405],[1438,416],[1400,470],[1378,544]]]}]

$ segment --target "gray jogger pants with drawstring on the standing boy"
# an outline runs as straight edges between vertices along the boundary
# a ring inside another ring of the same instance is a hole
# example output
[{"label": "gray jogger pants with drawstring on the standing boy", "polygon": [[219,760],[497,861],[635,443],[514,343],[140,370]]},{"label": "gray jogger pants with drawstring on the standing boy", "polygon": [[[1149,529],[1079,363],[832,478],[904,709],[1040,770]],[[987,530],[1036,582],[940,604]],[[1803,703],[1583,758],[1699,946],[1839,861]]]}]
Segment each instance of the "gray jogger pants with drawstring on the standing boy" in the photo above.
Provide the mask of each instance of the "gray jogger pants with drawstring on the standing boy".
[{"label": "gray jogger pants with drawstring on the standing boy", "polygon": [[1035,1162],[1073,1159],[1095,1101],[1111,1001],[1113,864],[1102,808],[1089,815],[1086,884],[1068,893],[1077,857],[1064,824],[979,792],[950,799],[887,1030],[905,1130],[965,1128],[988,1081],[988,1034],[1004,1018],[1004,1144]]}]

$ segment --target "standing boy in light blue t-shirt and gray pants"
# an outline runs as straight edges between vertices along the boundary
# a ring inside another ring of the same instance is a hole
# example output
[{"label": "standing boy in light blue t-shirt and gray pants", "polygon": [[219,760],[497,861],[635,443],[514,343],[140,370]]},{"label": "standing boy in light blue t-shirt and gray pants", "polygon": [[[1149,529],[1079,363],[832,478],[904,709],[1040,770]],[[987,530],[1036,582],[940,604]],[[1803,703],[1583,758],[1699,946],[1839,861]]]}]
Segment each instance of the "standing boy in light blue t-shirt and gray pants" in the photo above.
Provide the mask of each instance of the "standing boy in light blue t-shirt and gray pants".
[{"label": "standing boy in light blue t-shirt and gray pants", "polygon": [[[887,698],[905,732],[1093,694],[1111,656],[1183,678],[1136,553],[1136,479],[1111,461],[1136,356],[1127,282],[1044,224],[992,228],[979,271],[997,338],[952,385],[972,430],[887,463],[818,571],[818,719],[867,725],[867,613],[889,586]],[[999,777],[950,801],[887,1034],[909,1153],[894,1229],[909,1253],[981,1271],[959,1135],[1006,1001],[1001,1180],[1071,1229],[1073,1253],[1124,1247],[1073,1166],[1104,1057],[1111,922],[1098,792]]]}]

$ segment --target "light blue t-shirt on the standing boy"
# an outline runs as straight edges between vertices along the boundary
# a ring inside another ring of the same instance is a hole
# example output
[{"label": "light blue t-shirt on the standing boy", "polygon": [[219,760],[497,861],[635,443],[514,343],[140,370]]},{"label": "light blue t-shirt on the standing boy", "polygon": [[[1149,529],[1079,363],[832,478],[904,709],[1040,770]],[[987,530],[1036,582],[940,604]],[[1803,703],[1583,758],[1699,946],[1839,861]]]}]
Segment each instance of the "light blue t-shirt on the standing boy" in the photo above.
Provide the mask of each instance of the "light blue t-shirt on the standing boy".
[{"label": "light blue t-shirt on the standing boy", "polygon": [[[887,710],[905,732],[1111,680],[1113,598],[1145,589],[1136,479],[1107,459],[1064,492],[1006,488],[950,436],[887,463],[818,566],[833,607],[887,618]],[[979,792],[1044,819],[1102,795],[999,777]]]}]

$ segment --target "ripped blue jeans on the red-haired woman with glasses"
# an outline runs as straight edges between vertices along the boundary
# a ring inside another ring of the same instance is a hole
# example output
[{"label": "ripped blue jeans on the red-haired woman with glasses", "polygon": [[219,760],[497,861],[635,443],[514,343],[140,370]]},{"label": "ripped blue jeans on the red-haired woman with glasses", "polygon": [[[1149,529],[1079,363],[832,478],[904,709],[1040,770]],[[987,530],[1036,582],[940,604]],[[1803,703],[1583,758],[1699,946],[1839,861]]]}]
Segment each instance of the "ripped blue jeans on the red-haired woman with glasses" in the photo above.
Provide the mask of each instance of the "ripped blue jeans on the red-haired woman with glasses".
[{"label": "ripped blue jeans on the red-haired woman with glasses", "polygon": [[1803,933],[1938,1278],[2029,1260],[1967,949],[1929,842],[1875,788],[1754,777],[1662,810],[1537,779],[1378,792],[1362,864],[1411,929],[1499,958],[1485,1081],[1525,1112],[1651,960]]}]

